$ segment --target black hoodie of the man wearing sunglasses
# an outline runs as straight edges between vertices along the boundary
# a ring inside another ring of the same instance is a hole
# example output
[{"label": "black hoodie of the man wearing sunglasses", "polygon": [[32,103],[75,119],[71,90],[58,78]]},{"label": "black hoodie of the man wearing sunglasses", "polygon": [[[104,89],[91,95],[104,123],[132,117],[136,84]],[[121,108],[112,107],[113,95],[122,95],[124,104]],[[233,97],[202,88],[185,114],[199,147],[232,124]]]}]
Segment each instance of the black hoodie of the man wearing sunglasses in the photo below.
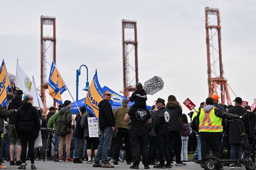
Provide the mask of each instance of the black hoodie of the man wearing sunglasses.
[{"label": "black hoodie of the man wearing sunglasses", "polygon": [[110,103],[107,100],[101,100],[99,105],[99,125],[100,130],[115,126],[115,117]]}]

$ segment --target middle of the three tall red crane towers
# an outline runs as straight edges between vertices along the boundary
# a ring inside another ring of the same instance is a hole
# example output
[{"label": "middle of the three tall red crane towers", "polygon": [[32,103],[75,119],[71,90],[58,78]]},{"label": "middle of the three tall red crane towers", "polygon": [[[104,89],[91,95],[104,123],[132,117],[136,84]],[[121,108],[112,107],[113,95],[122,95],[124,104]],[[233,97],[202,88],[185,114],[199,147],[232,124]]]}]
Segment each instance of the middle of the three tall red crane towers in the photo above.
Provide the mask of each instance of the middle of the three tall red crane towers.
[{"label": "middle of the three tall red crane towers", "polygon": [[[123,76],[124,76],[124,97],[129,98],[129,92],[136,90],[135,85],[138,83],[138,41],[136,21],[122,20],[122,37],[123,37]],[[134,30],[134,32],[133,32]],[[132,32],[131,32],[132,31]],[[134,56],[130,52],[134,51]],[[131,60],[135,57],[135,63]],[[134,66],[135,68],[134,68]],[[133,78],[134,77],[134,78]],[[135,83],[134,83],[135,80]]]}]

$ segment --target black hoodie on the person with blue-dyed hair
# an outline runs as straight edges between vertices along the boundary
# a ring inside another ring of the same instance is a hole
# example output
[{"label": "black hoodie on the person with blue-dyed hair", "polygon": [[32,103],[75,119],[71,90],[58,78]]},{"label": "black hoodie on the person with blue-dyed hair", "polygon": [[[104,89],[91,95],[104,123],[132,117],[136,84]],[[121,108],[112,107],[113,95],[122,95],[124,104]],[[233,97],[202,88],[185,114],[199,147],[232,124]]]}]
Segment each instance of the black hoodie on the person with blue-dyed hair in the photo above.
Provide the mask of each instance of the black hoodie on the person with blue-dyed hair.
[{"label": "black hoodie on the person with blue-dyed hair", "polygon": [[23,102],[21,107],[17,110],[15,116],[15,129],[18,133],[19,128],[36,129],[38,133],[40,130],[40,120],[36,107],[29,102]]}]

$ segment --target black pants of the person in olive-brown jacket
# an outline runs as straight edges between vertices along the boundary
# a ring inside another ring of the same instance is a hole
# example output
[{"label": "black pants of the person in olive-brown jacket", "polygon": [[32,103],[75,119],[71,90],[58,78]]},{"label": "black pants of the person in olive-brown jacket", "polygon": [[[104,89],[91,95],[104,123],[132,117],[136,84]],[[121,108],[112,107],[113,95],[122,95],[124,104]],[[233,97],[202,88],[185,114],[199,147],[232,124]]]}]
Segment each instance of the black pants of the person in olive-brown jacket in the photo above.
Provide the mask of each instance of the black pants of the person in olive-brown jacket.
[{"label": "black pants of the person in olive-brown jacket", "polygon": [[125,133],[125,132],[117,131],[116,133],[116,148],[115,148],[114,159],[117,161],[119,159],[120,147],[123,141],[123,137],[124,137],[124,144],[125,144],[126,162],[131,162],[132,152],[131,152],[131,147],[129,143],[129,133]]}]

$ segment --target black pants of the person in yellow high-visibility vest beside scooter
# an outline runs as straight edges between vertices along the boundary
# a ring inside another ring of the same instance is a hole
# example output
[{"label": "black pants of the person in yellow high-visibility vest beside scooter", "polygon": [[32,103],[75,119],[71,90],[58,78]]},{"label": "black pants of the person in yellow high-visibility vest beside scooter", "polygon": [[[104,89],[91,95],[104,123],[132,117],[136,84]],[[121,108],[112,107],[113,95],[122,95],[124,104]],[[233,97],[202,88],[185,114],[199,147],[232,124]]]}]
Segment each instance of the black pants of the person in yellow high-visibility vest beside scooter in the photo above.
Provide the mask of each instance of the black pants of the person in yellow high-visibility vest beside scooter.
[{"label": "black pants of the person in yellow high-visibility vest beside scooter", "polygon": [[[201,156],[202,156],[202,163],[206,162],[206,155],[208,145],[212,149],[212,155],[216,158],[220,159],[220,144],[219,144],[219,137],[214,134],[200,134],[200,142],[201,142]],[[217,164],[216,168],[218,169],[221,164]]]}]

